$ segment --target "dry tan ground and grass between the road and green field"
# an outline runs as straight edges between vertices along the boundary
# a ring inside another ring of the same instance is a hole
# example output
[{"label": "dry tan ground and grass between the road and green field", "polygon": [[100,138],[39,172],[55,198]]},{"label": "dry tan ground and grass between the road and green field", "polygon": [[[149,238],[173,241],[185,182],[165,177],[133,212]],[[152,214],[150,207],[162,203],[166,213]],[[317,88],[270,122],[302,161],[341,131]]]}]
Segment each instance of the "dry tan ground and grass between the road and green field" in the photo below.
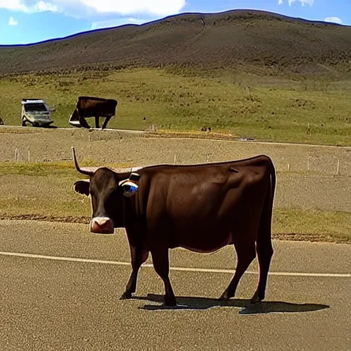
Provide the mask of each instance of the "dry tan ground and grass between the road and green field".
[{"label": "dry tan ground and grass between the road and green field", "polygon": [[[184,164],[206,162],[207,154],[212,154],[210,161],[268,154],[278,171],[274,237],[351,242],[348,149],[121,135],[119,142],[116,132],[54,130],[39,132],[35,138],[27,134],[2,134],[0,218],[88,222],[89,199],[72,188],[81,175],[73,169],[72,161],[59,160],[71,157],[71,145],[77,148],[82,165],[110,167],[173,163],[174,156],[176,163]],[[11,145],[28,145],[29,141],[35,162],[13,162]],[[308,156],[315,160],[310,171],[302,162]],[[339,175],[333,175],[335,165],[326,165],[326,160],[335,157],[341,160]],[[317,162],[319,159],[322,161]]]}]

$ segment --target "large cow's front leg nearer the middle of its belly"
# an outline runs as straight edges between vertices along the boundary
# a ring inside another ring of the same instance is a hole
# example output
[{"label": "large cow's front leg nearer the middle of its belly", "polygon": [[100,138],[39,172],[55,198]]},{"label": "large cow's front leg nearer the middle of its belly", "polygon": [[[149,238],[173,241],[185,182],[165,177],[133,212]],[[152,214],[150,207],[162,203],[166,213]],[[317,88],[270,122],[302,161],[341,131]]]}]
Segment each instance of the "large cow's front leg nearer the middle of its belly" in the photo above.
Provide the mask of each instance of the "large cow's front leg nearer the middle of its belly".
[{"label": "large cow's front leg nearer the middle of its belly", "polygon": [[165,284],[165,306],[176,306],[175,295],[169,280],[169,252],[168,249],[152,251],[152,263],[156,273]]}]

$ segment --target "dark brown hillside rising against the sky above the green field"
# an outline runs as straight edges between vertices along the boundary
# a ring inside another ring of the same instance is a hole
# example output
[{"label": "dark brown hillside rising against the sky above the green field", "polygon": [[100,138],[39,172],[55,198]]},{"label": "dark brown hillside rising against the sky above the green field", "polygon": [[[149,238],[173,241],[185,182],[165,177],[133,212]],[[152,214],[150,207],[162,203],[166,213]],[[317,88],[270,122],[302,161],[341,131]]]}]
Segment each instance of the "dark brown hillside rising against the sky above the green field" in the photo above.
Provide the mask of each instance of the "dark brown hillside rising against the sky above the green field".
[{"label": "dark brown hillside rising against the sky above the green field", "polygon": [[0,74],[167,65],[337,79],[351,76],[351,27],[234,10],[0,46]]}]

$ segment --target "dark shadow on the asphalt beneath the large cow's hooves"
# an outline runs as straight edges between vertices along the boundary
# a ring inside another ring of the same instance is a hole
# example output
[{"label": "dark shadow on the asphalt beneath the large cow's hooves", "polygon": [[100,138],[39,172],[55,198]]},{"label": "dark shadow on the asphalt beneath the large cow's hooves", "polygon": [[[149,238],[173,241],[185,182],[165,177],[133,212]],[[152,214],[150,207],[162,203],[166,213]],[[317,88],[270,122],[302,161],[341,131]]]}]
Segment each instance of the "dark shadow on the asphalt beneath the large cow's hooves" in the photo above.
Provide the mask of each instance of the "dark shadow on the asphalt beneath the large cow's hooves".
[{"label": "dark shadow on the asphalt beneath the large cow's hooves", "polygon": [[134,300],[147,300],[156,302],[156,304],[145,304],[139,307],[145,311],[184,311],[184,310],[207,310],[215,307],[234,307],[241,308],[239,314],[242,315],[258,315],[265,313],[302,313],[320,311],[330,306],[326,304],[295,304],[292,302],[280,301],[263,301],[257,304],[251,304],[250,300],[246,299],[231,299],[228,302],[223,302],[217,299],[198,298],[177,296],[177,306],[169,307],[163,305],[163,295],[147,294],[147,296],[134,297]]}]

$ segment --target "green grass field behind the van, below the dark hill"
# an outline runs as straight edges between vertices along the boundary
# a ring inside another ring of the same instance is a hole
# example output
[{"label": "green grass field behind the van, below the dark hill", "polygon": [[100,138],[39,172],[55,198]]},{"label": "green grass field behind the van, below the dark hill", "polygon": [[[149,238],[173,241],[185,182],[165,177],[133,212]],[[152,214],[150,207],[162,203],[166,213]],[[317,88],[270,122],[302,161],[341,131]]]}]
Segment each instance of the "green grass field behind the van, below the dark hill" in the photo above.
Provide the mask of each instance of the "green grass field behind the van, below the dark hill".
[{"label": "green grass field behind the van, below the dark hill", "polygon": [[[217,77],[165,69],[36,73],[0,78],[0,115],[21,125],[21,99],[56,108],[54,125],[69,127],[80,95],[114,98],[109,128],[231,134],[257,141],[351,145],[351,82],[293,82],[253,75]],[[93,119],[88,123],[94,126]]]}]

